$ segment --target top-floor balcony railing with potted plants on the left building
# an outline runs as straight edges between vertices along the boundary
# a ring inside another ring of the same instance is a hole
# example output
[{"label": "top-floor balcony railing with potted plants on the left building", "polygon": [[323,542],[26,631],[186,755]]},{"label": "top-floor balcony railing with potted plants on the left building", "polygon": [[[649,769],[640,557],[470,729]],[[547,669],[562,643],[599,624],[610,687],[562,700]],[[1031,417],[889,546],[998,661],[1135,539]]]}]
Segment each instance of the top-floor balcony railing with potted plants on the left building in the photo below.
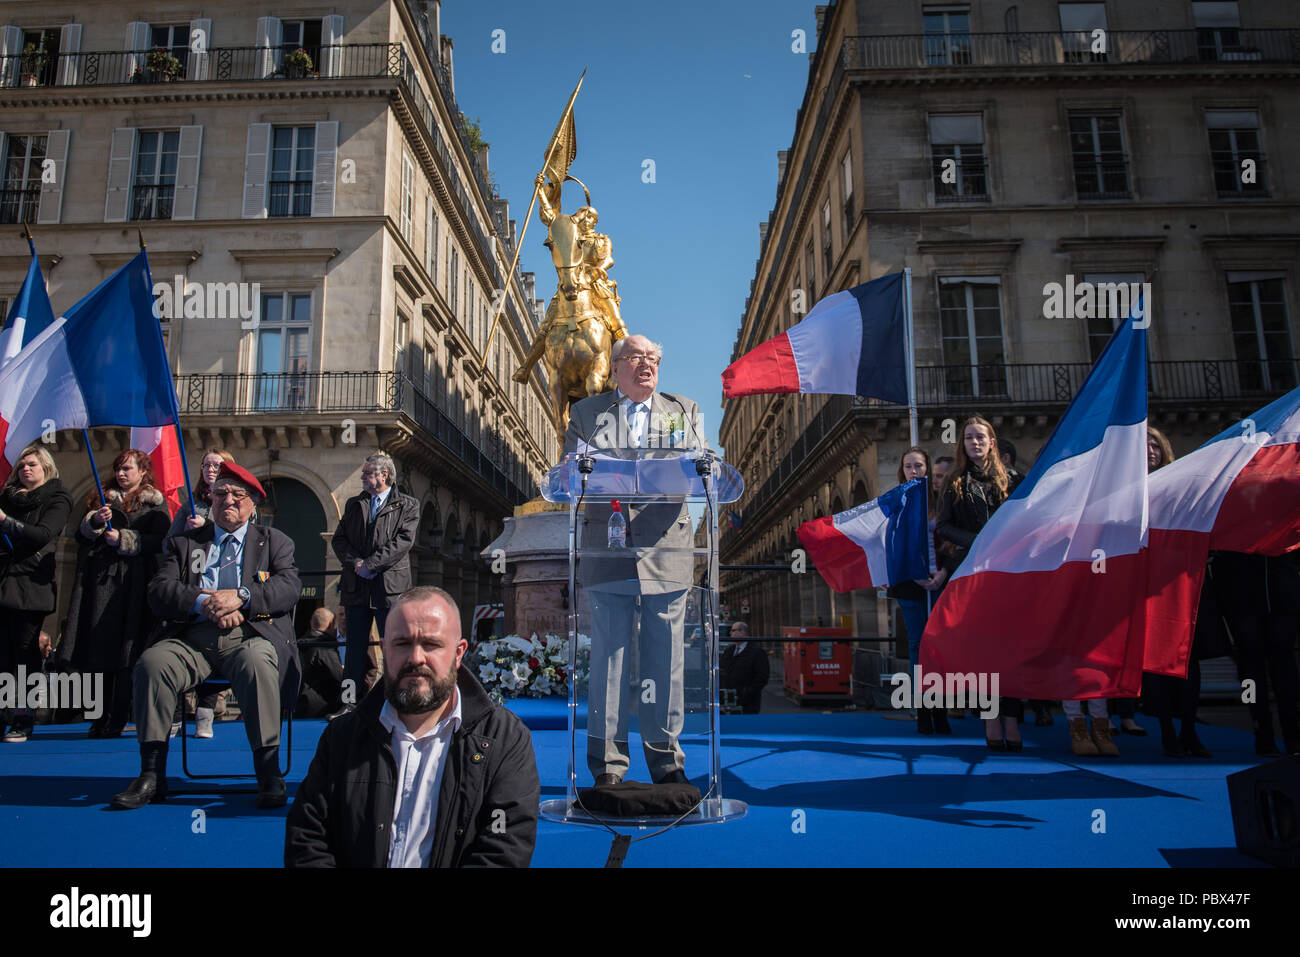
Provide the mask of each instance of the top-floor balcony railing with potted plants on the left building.
[{"label": "top-floor balcony railing with potted plants on the left building", "polygon": [[339,43],[320,48],[311,70],[285,64],[282,47],[209,47],[205,53],[190,53],[182,75],[153,73],[146,53],[100,49],[60,53],[49,57],[39,73],[26,69],[21,53],[0,56],[0,86],[110,86],[116,83],[195,83],[238,79],[316,79],[330,77],[396,77],[400,72],[400,43]]}]

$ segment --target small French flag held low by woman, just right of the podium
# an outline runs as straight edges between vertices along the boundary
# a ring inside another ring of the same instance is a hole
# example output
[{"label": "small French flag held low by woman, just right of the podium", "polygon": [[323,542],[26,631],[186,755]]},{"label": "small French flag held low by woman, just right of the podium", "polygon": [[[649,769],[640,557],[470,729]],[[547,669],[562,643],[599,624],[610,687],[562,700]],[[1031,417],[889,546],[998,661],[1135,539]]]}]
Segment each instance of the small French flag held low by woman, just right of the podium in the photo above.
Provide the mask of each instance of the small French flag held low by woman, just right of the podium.
[{"label": "small French flag held low by woman, just right of the podium", "polygon": [[913,478],[880,498],[805,521],[800,542],[836,592],[930,577],[930,480]]}]

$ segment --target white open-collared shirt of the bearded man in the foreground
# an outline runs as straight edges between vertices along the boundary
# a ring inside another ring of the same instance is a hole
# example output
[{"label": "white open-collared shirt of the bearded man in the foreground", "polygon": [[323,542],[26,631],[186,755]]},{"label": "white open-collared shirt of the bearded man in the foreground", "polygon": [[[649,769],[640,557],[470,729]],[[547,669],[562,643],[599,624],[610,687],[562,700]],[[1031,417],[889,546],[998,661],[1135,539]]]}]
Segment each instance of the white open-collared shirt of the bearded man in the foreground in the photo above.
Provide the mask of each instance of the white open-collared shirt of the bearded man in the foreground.
[{"label": "white open-collared shirt of the bearded man in the foreground", "polygon": [[393,737],[393,757],[398,762],[393,830],[389,832],[389,867],[429,866],[447,749],[451,746],[451,736],[460,727],[460,689],[452,693],[456,703],[451,714],[419,737],[406,729],[402,715],[391,703],[385,701],[380,711],[380,724]]}]

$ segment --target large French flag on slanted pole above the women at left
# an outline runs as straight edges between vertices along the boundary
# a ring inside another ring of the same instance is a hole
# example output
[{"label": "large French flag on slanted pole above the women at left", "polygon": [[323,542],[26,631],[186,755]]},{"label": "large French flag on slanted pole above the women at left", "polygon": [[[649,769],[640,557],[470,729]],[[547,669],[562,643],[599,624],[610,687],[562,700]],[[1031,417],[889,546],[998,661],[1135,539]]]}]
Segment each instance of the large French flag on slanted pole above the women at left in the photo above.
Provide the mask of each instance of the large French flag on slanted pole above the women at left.
[{"label": "large French flag on slanted pole above the women at left", "polygon": [[179,465],[176,389],[152,287],[140,250],[0,367],[0,481],[47,430],[100,425],[161,430],[131,438],[142,451],[160,454],[153,459],[155,469],[160,462],[164,469],[155,471],[160,490],[174,481],[165,471],[172,467],[165,437],[172,434],[170,455]]}]

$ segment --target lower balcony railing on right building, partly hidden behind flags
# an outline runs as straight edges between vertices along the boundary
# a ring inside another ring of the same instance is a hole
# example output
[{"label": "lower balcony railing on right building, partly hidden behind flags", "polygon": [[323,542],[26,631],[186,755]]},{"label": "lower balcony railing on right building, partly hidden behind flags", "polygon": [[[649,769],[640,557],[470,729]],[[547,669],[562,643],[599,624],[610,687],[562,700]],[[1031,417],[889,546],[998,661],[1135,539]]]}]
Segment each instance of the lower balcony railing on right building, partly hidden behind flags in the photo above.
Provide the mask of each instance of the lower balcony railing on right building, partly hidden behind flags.
[{"label": "lower balcony railing on right building, partly hidden behind flags", "polygon": [[[1005,410],[1008,406],[1065,407],[1079,391],[1092,365],[1088,363],[1037,363],[926,365],[916,369],[918,408],[944,412]],[[1300,384],[1300,359],[1188,359],[1147,365],[1147,395],[1156,407],[1245,399],[1264,406]],[[880,399],[836,395],[812,416],[809,426],[754,497],[741,502],[745,515],[755,516],[840,421],[854,410],[893,408]]]}]

